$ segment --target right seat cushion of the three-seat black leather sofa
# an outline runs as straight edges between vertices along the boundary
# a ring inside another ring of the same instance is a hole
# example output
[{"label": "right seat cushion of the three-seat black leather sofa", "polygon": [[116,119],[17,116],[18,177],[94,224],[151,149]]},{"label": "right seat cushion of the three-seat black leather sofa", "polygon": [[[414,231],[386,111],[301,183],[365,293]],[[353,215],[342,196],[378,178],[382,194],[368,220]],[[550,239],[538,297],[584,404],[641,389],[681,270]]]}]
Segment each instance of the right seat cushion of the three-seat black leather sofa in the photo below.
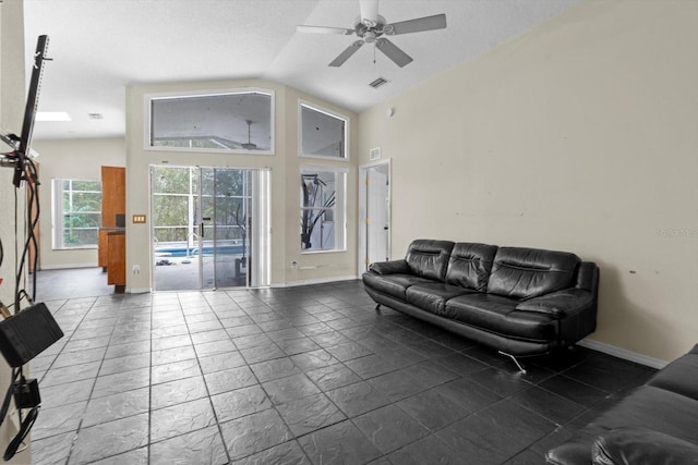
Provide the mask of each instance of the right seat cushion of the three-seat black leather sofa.
[{"label": "right seat cushion of the three-seat black leather sofa", "polygon": [[517,310],[517,304],[498,295],[467,294],[446,302],[444,316],[507,336],[532,341],[556,340],[557,318]]}]

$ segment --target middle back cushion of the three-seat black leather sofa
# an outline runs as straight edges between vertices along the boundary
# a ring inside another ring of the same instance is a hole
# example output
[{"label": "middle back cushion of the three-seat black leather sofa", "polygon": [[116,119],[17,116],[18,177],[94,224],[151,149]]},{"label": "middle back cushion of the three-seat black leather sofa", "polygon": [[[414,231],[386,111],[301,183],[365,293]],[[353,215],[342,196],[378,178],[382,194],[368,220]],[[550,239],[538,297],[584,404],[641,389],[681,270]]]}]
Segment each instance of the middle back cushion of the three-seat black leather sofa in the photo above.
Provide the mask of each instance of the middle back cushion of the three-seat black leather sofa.
[{"label": "middle back cushion of the three-seat black leather sofa", "polygon": [[496,245],[456,243],[448,260],[446,283],[486,292],[496,252]]}]

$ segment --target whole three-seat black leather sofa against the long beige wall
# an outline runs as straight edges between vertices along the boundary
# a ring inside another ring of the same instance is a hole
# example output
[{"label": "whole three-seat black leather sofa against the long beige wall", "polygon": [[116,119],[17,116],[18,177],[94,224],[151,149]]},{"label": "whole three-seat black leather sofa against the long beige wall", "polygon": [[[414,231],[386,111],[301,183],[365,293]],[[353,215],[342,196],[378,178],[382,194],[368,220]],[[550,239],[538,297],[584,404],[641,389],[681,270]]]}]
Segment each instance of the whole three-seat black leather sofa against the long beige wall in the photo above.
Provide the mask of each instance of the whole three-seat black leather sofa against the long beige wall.
[{"label": "whole three-seat black leather sofa against the long beige wall", "polygon": [[405,259],[374,262],[362,279],[376,308],[512,357],[569,346],[597,326],[599,268],[565,252],[417,240]]}]

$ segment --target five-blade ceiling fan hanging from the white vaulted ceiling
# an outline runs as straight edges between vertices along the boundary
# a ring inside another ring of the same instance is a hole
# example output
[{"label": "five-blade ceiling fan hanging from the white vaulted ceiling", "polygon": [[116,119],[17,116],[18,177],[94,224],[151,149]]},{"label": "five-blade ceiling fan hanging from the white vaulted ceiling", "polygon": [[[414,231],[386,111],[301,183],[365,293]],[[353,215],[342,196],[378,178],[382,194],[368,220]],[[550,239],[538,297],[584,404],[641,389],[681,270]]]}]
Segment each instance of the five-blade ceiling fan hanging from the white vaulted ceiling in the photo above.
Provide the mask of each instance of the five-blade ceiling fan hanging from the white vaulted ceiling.
[{"label": "five-blade ceiling fan hanging from the white vaulted ceiling", "polygon": [[420,33],[422,30],[443,29],[446,27],[445,14],[386,24],[385,17],[378,14],[378,0],[360,0],[360,11],[361,16],[352,29],[326,26],[296,26],[296,30],[299,33],[340,34],[346,36],[356,34],[357,37],[359,37],[359,40],[356,40],[347,47],[345,51],[339,53],[339,56],[329,63],[330,66],[341,66],[345,61],[354,54],[364,44],[374,44],[375,47],[393,60],[395,64],[402,68],[409,64],[412,58],[383,36],[397,36],[400,34]]}]

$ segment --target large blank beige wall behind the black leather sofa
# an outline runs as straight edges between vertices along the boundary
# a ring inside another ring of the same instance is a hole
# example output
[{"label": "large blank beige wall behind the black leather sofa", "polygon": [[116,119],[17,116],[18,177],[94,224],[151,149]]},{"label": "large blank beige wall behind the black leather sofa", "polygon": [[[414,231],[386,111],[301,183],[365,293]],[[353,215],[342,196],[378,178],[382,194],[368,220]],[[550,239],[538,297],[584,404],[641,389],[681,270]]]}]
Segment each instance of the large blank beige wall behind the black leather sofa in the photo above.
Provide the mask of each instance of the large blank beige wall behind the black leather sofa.
[{"label": "large blank beige wall behind the black leather sofa", "polygon": [[416,237],[571,250],[601,267],[592,340],[691,347],[696,24],[695,1],[587,1],[361,113],[362,162],[393,159],[393,255]]}]

